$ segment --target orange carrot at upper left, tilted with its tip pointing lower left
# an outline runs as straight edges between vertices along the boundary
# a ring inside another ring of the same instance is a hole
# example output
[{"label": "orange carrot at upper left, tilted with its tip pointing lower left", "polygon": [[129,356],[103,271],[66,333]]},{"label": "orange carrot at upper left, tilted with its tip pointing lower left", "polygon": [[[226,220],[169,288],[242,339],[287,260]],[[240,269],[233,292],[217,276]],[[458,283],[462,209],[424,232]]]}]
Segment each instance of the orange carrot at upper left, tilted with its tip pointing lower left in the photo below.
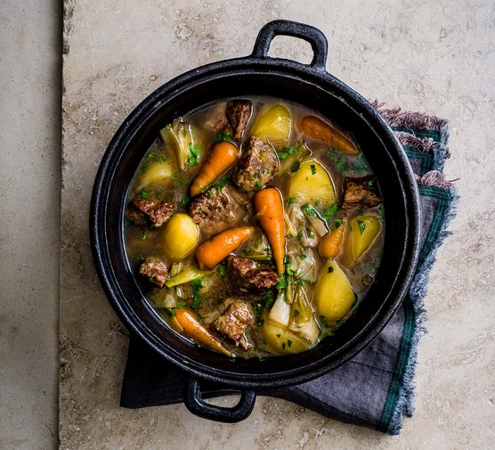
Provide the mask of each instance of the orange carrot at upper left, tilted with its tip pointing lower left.
[{"label": "orange carrot at upper left, tilted with its tip pointing lower left", "polygon": [[231,167],[237,160],[237,147],[228,141],[215,143],[208,153],[207,159],[199,168],[199,172],[192,180],[189,192],[191,197],[198,195],[207,189],[216,178],[221,176],[225,170]]}]

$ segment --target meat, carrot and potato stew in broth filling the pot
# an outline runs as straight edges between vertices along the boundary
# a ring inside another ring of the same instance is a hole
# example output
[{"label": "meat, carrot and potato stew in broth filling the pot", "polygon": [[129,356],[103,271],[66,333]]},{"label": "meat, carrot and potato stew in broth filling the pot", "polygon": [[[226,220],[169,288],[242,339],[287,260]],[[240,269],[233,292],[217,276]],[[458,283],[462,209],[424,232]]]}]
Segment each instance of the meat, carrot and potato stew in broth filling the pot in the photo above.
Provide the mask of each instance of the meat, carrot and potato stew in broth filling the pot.
[{"label": "meat, carrot and potato stew in broth filling the pot", "polygon": [[164,326],[238,357],[331,339],[375,281],[385,235],[352,136],[269,97],[164,125],[129,187],[125,233]]}]

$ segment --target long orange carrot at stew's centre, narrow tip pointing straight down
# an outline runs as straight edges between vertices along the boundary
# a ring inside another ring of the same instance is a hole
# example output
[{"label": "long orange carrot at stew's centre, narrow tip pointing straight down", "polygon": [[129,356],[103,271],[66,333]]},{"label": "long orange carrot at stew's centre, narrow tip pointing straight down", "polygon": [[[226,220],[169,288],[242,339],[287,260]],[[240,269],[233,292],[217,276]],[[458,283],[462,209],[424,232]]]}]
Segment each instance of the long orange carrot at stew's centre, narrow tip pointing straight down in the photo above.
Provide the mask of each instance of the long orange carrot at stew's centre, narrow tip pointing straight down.
[{"label": "long orange carrot at stew's centre, narrow tip pointing straight down", "polygon": [[277,272],[281,275],[285,272],[285,228],[280,191],[275,187],[267,187],[256,192],[253,197],[253,209],[270,242]]}]

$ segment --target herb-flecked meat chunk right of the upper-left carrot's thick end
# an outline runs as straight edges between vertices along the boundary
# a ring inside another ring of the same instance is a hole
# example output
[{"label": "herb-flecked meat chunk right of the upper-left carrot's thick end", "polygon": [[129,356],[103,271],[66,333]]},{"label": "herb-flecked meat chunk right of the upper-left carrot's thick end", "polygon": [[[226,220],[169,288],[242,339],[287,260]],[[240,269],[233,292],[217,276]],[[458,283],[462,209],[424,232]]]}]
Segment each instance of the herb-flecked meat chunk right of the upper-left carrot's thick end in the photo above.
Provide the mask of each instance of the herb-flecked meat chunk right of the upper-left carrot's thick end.
[{"label": "herb-flecked meat chunk right of the upper-left carrot's thick end", "polygon": [[243,191],[259,191],[272,181],[279,168],[279,159],[272,145],[251,136],[248,148],[242,151],[232,181]]}]

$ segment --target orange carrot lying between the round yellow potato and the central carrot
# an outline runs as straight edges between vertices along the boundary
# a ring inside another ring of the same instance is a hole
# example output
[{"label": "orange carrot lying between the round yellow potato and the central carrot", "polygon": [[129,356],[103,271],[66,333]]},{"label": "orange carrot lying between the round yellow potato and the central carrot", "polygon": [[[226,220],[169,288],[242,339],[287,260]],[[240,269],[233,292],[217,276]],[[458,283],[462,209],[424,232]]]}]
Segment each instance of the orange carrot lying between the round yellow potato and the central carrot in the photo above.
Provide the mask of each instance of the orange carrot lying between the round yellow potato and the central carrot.
[{"label": "orange carrot lying between the round yellow potato and the central carrot", "polygon": [[215,234],[204,241],[196,250],[199,268],[213,269],[224,258],[227,258],[229,253],[239,249],[240,244],[246,241],[254,230],[252,226],[238,226]]}]

